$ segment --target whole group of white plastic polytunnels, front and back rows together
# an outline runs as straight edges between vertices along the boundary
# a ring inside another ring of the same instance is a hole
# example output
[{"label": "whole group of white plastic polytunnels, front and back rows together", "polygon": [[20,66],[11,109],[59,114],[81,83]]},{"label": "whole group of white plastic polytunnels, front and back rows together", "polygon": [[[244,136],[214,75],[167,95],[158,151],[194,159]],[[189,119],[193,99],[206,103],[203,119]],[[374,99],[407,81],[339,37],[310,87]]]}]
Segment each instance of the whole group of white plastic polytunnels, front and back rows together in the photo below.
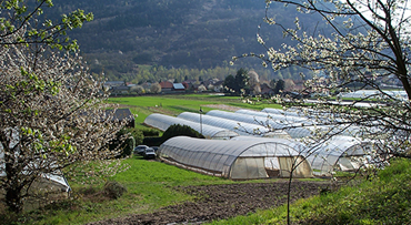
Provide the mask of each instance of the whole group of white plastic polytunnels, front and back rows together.
[{"label": "whole group of white plastic polytunnels, front and back rows together", "polygon": [[309,147],[301,137],[328,127],[315,127],[307,117],[274,109],[184,112],[178,117],[151,114],[144,123],[163,131],[184,124],[203,133],[208,140],[170,139],[160,146],[160,156],[182,167],[233,180],[287,177],[291,171],[295,177],[355,171],[368,163],[363,158],[373,147],[350,133]]}]

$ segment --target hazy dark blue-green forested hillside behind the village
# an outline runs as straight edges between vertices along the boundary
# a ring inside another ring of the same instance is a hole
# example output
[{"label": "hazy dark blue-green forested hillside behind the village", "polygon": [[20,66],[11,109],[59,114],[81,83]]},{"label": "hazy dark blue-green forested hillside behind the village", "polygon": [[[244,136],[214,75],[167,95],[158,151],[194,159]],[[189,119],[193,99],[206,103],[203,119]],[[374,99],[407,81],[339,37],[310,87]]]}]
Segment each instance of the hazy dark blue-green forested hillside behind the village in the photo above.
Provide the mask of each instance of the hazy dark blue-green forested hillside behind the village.
[{"label": "hazy dark blue-green forested hillside behind the village", "polygon": [[[70,37],[79,41],[91,71],[104,72],[111,80],[133,80],[142,64],[200,71],[228,68],[233,55],[263,52],[255,39],[259,24],[270,45],[280,48],[284,42],[278,27],[263,24],[263,0],[53,2],[57,10],[51,10],[48,17],[57,18],[78,8],[94,14],[92,22],[72,31]],[[293,23],[297,16],[301,18],[291,7],[275,10],[275,20],[287,25]],[[305,28],[314,27],[318,20],[310,14],[301,19]],[[258,60],[242,60],[235,67],[261,69],[258,64]],[[287,76],[298,76],[298,73],[285,72]]]}]

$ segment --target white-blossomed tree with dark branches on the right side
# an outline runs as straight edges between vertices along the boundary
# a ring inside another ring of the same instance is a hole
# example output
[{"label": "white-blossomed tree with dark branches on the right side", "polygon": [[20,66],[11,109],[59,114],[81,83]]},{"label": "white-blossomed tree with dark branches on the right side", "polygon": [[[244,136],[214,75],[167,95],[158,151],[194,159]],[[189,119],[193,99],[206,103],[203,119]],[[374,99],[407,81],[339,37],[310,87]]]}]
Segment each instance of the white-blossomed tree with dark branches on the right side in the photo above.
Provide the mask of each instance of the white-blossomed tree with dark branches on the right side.
[{"label": "white-blossomed tree with dark branches on the right side", "polygon": [[[273,3],[294,7],[302,13],[317,13],[325,22],[308,30],[297,18],[294,28],[285,28],[275,23],[274,12],[271,16],[270,6]],[[293,40],[295,45],[283,44],[275,50],[265,44],[260,30],[258,42],[267,52],[250,55],[260,58],[264,67],[270,65],[274,70],[294,65],[315,72],[317,75],[307,80],[305,89],[301,91],[315,95],[314,104],[291,96],[277,99],[285,108],[305,112],[315,121],[315,126],[327,125],[323,126],[327,129],[318,130],[309,143],[325,142],[355,127],[353,136],[374,143],[375,152],[370,152],[371,155],[410,156],[409,3],[408,0],[267,1],[265,22],[279,25],[284,37]],[[324,27],[334,32],[321,33]],[[400,83],[404,98],[384,90],[381,83],[387,80]],[[341,95],[332,99],[335,93],[365,89],[373,92],[349,104],[342,104]],[[375,104],[361,106],[368,101]]]}]

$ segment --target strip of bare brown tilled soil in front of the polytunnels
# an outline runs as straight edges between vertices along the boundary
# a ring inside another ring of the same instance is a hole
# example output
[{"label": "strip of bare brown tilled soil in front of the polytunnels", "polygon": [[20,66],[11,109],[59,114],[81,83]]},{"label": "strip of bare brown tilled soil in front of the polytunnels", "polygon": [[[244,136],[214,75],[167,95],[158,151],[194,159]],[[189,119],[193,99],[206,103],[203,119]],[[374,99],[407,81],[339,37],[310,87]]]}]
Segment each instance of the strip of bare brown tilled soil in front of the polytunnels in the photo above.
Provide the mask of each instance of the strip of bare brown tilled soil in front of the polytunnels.
[{"label": "strip of bare brown tilled soil in front of the polytunnels", "polygon": [[[328,187],[322,182],[292,182],[292,201],[317,195]],[[247,215],[287,203],[288,182],[249,183],[178,187],[197,196],[194,202],[163,207],[150,214],[131,215],[91,223],[107,224],[200,224],[213,219]]]}]

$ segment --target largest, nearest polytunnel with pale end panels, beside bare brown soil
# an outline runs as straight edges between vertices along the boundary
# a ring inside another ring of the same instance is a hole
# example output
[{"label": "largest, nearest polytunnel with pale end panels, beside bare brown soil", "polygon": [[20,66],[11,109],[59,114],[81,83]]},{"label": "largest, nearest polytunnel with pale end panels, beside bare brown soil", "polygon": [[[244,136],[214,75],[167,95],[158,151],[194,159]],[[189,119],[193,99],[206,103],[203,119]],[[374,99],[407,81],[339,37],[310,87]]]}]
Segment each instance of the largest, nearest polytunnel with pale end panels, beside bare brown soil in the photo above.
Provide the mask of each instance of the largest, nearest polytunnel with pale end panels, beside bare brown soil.
[{"label": "largest, nearest polytunnel with pale end panels, beside bare brown soil", "polygon": [[299,162],[294,177],[312,177],[312,168],[299,153],[303,145],[283,139],[238,141],[176,136],[160,146],[168,163],[200,173],[232,180],[288,177]]}]

